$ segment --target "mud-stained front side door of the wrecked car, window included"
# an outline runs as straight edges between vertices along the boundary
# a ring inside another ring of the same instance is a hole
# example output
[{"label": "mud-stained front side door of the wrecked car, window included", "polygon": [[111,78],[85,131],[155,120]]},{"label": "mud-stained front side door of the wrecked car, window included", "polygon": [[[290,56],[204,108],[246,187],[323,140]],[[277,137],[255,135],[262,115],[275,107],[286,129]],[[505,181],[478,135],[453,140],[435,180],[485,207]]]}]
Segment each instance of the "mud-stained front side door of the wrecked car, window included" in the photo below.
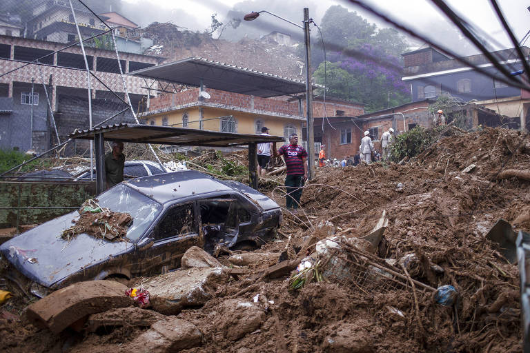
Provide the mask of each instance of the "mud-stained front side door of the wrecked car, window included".
[{"label": "mud-stained front side door of the wrecked car, window included", "polygon": [[193,245],[202,248],[195,214],[195,203],[191,201],[173,205],[161,216],[151,232],[153,246],[139,254],[144,276],[178,268],[188,248]]}]

